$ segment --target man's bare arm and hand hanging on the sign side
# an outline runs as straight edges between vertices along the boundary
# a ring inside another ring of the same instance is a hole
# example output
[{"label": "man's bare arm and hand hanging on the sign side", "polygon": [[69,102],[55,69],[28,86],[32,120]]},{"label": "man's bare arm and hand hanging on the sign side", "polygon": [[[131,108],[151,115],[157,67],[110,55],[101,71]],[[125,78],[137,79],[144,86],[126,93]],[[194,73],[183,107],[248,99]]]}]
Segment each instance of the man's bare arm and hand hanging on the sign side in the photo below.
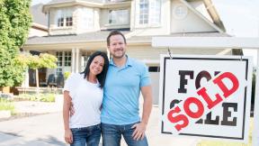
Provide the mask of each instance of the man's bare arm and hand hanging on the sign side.
[{"label": "man's bare arm and hand hanging on the sign side", "polygon": [[134,140],[142,140],[145,137],[145,131],[152,110],[152,88],[151,86],[141,87],[141,93],[144,98],[143,113],[140,123],[136,123],[132,128],[136,128],[132,136]]}]

